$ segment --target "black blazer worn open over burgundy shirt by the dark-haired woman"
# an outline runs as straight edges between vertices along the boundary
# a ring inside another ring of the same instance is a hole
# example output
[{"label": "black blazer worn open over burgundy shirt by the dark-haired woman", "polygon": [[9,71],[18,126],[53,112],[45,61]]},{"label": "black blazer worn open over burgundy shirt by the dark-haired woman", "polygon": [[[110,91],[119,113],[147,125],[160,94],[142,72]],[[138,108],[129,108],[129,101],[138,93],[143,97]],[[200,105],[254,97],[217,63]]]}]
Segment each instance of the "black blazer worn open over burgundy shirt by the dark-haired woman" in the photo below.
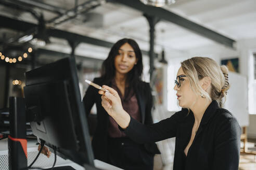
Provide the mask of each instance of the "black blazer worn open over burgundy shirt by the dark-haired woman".
[{"label": "black blazer worn open over burgundy shirt by the dark-haired woman", "polygon": [[[95,78],[93,80],[94,83],[99,84],[99,86],[103,86],[104,82],[102,78]],[[107,86],[111,86],[111,84],[105,84]],[[139,82],[139,87],[134,89],[140,114],[142,116],[143,124],[151,124],[152,116],[151,116],[151,108],[152,108],[152,95],[149,83]],[[83,98],[83,104],[85,107],[86,115],[90,113],[94,103],[96,103],[97,107],[97,127],[95,133],[93,135],[92,147],[94,151],[94,157],[101,161],[107,161],[107,153],[108,153],[108,125],[109,125],[109,115],[106,110],[101,106],[101,95],[98,94],[98,89],[89,86],[85,96]],[[152,154],[160,153],[155,143],[147,143],[144,144],[145,149]]]}]

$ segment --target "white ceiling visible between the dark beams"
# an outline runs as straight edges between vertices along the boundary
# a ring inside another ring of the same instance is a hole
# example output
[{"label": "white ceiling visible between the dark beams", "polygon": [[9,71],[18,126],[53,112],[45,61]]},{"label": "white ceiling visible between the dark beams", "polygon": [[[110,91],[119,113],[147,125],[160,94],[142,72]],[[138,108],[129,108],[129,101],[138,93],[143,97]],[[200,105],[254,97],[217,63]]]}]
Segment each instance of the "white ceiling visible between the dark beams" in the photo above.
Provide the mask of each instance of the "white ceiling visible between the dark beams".
[{"label": "white ceiling visible between the dark beams", "polygon": [[[44,0],[43,2],[65,10],[74,7],[74,1],[68,0]],[[84,2],[86,1],[81,0],[79,4]],[[255,0],[177,0],[175,4],[163,8],[236,41],[256,38]],[[38,8],[35,8],[35,10],[42,11]],[[112,43],[123,37],[130,37],[138,42],[140,48],[146,51],[149,50],[149,26],[142,12],[113,3],[103,4],[89,12],[98,13],[101,18],[83,22],[85,17],[78,16],[76,19],[56,26],[56,28]],[[43,13],[46,20],[57,16],[55,13],[48,11],[43,11]],[[2,5],[0,6],[0,15],[15,16],[20,20],[36,23],[30,13],[19,12]],[[164,48],[169,57],[173,56],[170,54],[193,53],[204,47],[206,49],[217,47],[222,50],[230,50],[210,39],[167,21],[160,21],[156,25],[155,35],[155,51],[160,52]],[[47,45],[46,49],[67,53],[71,51],[65,40],[51,38],[51,41],[52,44]],[[75,54],[106,59],[108,51],[108,48],[80,44]]]}]

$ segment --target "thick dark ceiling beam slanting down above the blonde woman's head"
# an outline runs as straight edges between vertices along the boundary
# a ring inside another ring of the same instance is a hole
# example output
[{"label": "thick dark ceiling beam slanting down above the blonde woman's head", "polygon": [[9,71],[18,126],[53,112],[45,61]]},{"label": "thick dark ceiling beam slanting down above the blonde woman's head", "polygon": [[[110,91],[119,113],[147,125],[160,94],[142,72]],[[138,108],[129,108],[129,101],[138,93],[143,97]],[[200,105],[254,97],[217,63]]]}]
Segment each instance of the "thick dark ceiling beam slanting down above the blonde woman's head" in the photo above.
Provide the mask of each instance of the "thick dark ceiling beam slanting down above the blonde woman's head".
[{"label": "thick dark ceiling beam slanting down above the blonde woman's head", "polygon": [[203,37],[206,37],[213,41],[216,41],[217,43],[234,48],[234,46],[233,46],[233,44],[235,43],[234,39],[228,38],[222,34],[219,34],[210,29],[207,29],[206,27],[201,26],[195,22],[189,21],[186,18],[178,16],[169,10],[159,8],[159,7],[145,5],[142,2],[140,2],[139,0],[129,0],[129,1],[118,0],[118,1],[114,1],[114,2],[117,2],[120,4],[126,5],[128,7],[134,8],[136,10],[142,11],[144,14],[147,14],[149,16],[155,16],[161,20],[172,22],[174,24],[184,27],[185,29],[187,29],[191,32],[194,32],[198,35],[201,35]]}]

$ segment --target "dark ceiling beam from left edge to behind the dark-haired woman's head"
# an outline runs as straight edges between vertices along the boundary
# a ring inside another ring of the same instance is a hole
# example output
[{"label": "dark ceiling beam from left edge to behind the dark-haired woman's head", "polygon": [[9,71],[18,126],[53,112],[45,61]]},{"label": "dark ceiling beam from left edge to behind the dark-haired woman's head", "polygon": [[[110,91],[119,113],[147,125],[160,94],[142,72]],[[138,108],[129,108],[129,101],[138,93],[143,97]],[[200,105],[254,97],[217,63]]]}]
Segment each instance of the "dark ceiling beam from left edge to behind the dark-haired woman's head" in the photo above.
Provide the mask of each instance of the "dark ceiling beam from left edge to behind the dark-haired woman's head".
[{"label": "dark ceiling beam from left edge to behind the dark-haired woman's head", "polygon": [[[25,21],[20,21],[17,19],[12,19],[4,16],[0,16],[0,28],[5,27],[8,29],[21,31],[21,32],[27,32],[28,30],[31,30],[33,27],[36,27],[37,24],[29,23]],[[63,30],[57,30],[57,29],[48,29],[47,33],[49,36],[66,39],[68,41],[78,41],[80,43],[86,43],[91,44],[95,46],[101,46],[106,48],[111,48],[114,43],[110,43],[109,41],[100,40],[97,38],[88,37],[85,35],[79,35],[75,33],[70,33]],[[142,53],[144,55],[148,55],[148,51],[142,50]]]}]

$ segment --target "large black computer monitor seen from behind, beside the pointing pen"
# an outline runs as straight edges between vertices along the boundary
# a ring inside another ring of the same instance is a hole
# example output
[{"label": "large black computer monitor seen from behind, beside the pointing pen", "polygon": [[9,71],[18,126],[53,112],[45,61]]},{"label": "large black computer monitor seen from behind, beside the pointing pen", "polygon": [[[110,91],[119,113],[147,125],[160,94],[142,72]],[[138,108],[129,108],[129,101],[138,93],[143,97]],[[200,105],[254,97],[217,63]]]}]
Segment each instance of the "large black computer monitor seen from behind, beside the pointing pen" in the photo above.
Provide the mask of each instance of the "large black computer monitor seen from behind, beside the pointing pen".
[{"label": "large black computer monitor seen from behind, beside the pointing pen", "polygon": [[91,138],[82,105],[74,58],[25,73],[24,96],[33,134],[57,154],[94,166]]}]

